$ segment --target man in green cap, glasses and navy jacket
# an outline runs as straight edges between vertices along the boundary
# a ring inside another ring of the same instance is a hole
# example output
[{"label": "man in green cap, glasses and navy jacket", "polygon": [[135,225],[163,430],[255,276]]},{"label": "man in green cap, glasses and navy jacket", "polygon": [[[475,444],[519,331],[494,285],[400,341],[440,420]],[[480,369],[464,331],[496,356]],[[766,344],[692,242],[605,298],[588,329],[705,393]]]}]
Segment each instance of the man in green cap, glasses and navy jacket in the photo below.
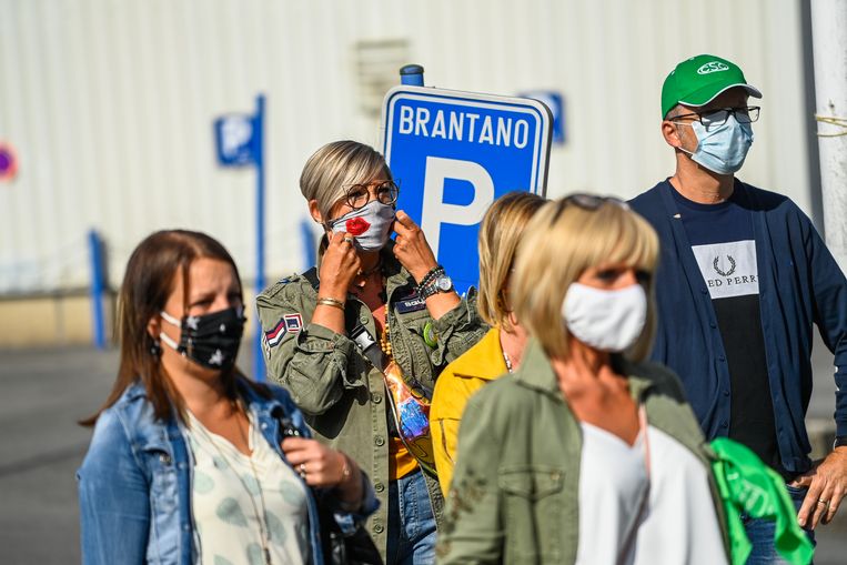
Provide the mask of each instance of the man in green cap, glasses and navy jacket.
[{"label": "man in green cap, glasses and navy jacket", "polygon": [[[662,242],[653,359],[679,375],[709,440],[734,438],[785,477],[813,529],[847,491],[847,281],[794,202],[735,178],[759,114],[749,97],[762,93],[742,70],[707,54],[663,85],[676,171],[631,202]],[[805,426],[813,324],[838,386],[836,445],[817,466]],[[773,554],[773,523],[745,526],[753,554]]]}]

